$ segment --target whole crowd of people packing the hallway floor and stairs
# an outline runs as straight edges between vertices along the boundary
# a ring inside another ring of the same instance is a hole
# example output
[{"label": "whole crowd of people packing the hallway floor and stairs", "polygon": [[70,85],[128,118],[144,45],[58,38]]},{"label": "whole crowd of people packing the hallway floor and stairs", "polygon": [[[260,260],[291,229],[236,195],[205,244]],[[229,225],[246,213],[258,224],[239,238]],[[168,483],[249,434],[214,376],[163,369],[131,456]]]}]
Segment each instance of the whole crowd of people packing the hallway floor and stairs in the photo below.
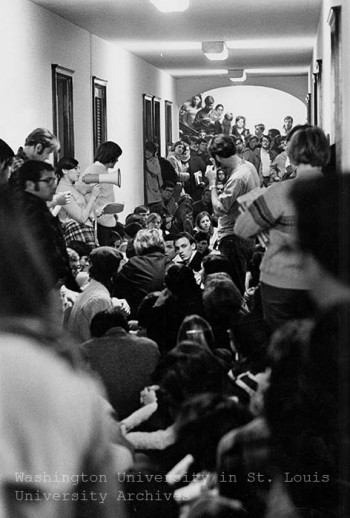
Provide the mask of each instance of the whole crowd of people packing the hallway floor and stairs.
[{"label": "whole crowd of people packing the hallway floor and stairs", "polygon": [[146,143],[124,223],[117,143],[0,140],[4,516],[346,516],[350,175],[214,111]]}]

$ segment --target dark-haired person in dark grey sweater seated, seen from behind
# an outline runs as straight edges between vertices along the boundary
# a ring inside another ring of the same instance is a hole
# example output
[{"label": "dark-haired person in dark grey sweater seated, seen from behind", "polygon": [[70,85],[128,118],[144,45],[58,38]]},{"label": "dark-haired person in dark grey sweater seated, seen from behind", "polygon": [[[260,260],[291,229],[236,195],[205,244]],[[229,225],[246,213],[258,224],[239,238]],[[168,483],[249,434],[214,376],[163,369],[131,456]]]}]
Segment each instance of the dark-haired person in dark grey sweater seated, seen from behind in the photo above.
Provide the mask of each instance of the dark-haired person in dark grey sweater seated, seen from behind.
[{"label": "dark-haired person in dark grey sweater seated, seen from behind", "polygon": [[159,361],[155,342],[129,333],[119,308],[97,313],[90,325],[92,339],[80,345],[84,358],[107,389],[118,419],[140,407],[140,391],[151,384]]}]

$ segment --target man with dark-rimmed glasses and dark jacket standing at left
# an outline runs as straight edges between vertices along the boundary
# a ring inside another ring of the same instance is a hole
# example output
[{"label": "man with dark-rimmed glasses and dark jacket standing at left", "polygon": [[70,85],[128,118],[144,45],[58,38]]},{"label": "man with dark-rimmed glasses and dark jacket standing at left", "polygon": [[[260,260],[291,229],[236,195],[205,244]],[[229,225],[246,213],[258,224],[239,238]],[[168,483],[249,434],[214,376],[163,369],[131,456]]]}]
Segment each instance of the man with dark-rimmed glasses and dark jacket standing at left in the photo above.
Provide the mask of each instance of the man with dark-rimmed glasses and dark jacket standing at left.
[{"label": "man with dark-rimmed glasses and dark jacket standing at left", "polygon": [[79,291],[69,266],[60,223],[47,207],[55,194],[56,184],[55,169],[48,162],[27,160],[18,170],[23,210],[33,237],[51,268],[54,285],[65,284],[67,288]]}]

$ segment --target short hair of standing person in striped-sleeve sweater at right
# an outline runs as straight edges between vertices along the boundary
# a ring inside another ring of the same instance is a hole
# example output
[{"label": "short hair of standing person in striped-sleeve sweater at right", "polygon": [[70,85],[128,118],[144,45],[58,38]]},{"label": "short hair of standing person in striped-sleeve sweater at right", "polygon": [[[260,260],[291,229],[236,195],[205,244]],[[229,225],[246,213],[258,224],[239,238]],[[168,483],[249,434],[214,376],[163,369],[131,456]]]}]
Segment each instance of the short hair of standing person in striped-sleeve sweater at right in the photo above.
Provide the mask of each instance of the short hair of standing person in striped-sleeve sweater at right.
[{"label": "short hair of standing person in striped-sleeve sweater at right", "polygon": [[321,128],[306,124],[293,132],[289,139],[288,155],[295,165],[323,167],[330,159],[328,139]]}]

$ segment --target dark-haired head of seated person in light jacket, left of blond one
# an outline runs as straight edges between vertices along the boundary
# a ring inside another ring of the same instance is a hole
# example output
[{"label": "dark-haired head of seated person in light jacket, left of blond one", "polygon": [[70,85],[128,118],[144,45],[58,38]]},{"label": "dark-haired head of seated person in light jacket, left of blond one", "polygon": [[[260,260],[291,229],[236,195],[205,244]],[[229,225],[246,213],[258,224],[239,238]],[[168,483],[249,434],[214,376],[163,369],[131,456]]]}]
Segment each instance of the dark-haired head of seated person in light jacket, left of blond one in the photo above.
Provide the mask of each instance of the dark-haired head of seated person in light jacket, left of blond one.
[{"label": "dark-haired head of seated person in light jacket, left of blond one", "polygon": [[90,254],[90,277],[102,284],[109,283],[113,274],[117,273],[123,255],[115,248],[101,246]]}]

